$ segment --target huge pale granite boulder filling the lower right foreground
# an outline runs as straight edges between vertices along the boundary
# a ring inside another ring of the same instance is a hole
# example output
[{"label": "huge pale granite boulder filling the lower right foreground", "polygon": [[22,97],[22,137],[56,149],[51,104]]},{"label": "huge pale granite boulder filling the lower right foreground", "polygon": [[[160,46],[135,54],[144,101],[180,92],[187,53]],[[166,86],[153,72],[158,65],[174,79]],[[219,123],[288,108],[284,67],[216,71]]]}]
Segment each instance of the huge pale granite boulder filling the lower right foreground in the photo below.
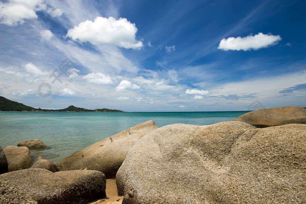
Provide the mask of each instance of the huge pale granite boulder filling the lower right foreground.
[{"label": "huge pale granite boulder filling the lower right foreground", "polygon": [[116,175],[122,203],[303,203],[306,125],[174,124],[144,136]]}]

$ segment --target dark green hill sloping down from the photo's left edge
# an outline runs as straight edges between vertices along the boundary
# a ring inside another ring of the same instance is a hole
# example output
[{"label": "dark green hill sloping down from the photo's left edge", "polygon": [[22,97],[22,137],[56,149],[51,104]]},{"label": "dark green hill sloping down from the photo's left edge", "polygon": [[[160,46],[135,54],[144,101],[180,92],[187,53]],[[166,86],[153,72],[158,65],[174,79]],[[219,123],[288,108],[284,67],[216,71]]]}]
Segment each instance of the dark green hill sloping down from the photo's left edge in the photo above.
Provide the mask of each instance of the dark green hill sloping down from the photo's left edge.
[{"label": "dark green hill sloping down from the photo's left edge", "polygon": [[0,111],[36,111],[38,109],[0,96]]}]

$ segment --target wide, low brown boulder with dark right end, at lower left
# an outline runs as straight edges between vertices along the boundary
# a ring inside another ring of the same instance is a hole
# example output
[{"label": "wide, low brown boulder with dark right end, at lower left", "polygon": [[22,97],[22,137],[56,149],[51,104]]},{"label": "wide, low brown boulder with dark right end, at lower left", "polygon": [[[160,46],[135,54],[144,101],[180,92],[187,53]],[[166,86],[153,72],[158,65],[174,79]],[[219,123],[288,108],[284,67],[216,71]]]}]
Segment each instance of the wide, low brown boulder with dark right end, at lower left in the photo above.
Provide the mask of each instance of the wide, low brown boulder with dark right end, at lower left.
[{"label": "wide, low brown boulder with dark right end, at lower left", "polygon": [[106,196],[106,178],[99,171],[52,173],[47,169],[24,169],[1,174],[0,180],[13,184],[44,204],[87,203]]}]

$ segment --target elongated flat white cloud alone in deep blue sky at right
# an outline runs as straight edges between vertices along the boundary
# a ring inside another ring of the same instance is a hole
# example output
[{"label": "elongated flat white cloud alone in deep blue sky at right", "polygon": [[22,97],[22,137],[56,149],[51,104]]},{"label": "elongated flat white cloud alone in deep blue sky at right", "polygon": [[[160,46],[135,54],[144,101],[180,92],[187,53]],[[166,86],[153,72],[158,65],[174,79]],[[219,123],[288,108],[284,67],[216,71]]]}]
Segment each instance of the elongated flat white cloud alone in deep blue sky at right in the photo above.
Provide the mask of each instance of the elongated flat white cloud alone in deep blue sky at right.
[{"label": "elongated flat white cloud alone in deep blue sky at right", "polygon": [[222,50],[258,50],[263,47],[274,45],[278,43],[282,38],[280,35],[266,35],[263,33],[258,33],[257,35],[248,35],[246,37],[230,37],[223,38],[218,46],[218,49]]}]

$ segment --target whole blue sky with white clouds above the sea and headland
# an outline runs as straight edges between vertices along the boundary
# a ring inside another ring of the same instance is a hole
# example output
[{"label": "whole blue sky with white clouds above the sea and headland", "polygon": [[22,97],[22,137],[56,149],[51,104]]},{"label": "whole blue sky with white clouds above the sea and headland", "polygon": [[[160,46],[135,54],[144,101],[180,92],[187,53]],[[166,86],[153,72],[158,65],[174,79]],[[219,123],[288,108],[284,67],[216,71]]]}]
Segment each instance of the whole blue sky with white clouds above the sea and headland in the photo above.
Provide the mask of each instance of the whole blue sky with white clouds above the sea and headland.
[{"label": "whole blue sky with white clouds above the sea and headland", "polygon": [[28,106],[306,106],[305,1],[9,0],[0,20],[0,95]]}]

